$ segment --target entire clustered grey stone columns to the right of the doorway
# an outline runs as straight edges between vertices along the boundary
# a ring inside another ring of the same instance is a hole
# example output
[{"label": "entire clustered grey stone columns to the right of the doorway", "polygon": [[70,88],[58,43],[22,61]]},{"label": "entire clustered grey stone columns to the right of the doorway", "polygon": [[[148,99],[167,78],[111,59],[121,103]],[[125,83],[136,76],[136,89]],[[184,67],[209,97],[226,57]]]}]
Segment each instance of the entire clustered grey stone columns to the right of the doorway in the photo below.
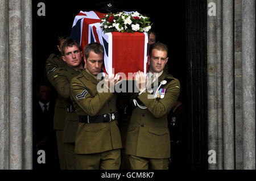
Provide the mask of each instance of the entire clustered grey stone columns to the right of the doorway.
[{"label": "entire clustered grey stone columns to the right of the doorway", "polygon": [[217,148],[209,169],[255,169],[255,1],[209,3],[208,148]]}]

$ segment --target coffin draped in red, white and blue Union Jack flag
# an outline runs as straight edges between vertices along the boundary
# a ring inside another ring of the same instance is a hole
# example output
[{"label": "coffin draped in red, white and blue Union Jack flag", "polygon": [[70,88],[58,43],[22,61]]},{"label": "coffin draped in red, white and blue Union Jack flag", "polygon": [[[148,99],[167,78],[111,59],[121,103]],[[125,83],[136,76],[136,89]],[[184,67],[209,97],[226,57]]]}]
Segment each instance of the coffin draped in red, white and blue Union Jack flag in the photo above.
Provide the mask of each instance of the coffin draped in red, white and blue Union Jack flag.
[{"label": "coffin draped in red, white and blue Union Jack flag", "polygon": [[105,73],[124,73],[127,79],[132,79],[131,74],[138,70],[146,75],[147,33],[104,33],[100,28],[100,18],[104,18],[104,15],[97,11],[80,11],[73,22],[71,37],[80,43],[83,52],[89,43],[97,42],[103,45]]}]

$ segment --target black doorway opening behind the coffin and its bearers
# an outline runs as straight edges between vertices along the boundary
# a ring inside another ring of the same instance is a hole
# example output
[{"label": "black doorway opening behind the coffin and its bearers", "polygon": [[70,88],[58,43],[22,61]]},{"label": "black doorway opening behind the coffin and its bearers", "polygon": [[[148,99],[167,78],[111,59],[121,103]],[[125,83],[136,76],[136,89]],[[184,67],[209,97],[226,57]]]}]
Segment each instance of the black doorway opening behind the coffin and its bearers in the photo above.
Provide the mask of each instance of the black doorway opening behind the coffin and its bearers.
[{"label": "black doorway opening behind the coffin and its bearers", "polygon": [[[39,2],[45,3],[46,16],[38,16]],[[179,132],[183,144],[177,151],[180,165],[173,168],[207,169],[206,1],[120,2],[120,10],[138,11],[151,18],[156,41],[169,48],[169,73],[181,83],[179,100],[186,108]],[[49,54],[57,53],[57,32],[71,31],[79,11],[95,10],[95,5],[95,1],[32,1],[34,96],[36,83],[47,79],[45,62]]]}]

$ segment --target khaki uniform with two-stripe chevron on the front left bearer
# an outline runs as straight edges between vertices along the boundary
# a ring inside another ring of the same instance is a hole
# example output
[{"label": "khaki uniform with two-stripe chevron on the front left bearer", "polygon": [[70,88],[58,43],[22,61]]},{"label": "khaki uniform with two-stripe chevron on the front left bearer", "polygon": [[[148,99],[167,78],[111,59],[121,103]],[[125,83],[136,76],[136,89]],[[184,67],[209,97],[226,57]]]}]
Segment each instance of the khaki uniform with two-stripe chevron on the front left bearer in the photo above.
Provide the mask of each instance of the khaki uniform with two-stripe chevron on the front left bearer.
[{"label": "khaki uniform with two-stripe chevron on the front left bearer", "polygon": [[[82,75],[78,75],[71,81],[71,95],[73,105],[77,113],[81,116],[96,116],[112,113],[116,111],[116,95],[112,92],[98,92],[97,79],[86,70]],[[104,161],[106,151],[121,149],[122,141],[117,125],[117,120],[108,123],[79,123],[76,134],[75,153],[77,158],[77,169],[119,169],[119,154],[113,154],[112,159],[116,159],[118,164],[106,162],[104,167],[98,167],[98,162],[94,159],[94,154]],[[77,155],[80,154],[80,155]],[[82,155],[84,154],[84,155]],[[88,157],[91,154],[92,157]],[[109,154],[108,154],[109,155]],[[98,159],[97,159],[98,160]],[[108,158],[108,161],[111,159]],[[88,165],[83,166],[83,163]]]}]

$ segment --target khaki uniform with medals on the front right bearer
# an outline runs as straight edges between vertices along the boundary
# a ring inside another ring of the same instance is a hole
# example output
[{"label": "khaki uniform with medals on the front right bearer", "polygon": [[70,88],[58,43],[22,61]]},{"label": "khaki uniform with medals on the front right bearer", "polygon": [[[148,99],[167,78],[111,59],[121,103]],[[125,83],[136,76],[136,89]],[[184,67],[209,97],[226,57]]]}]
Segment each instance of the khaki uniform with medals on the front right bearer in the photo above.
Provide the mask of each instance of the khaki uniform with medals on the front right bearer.
[{"label": "khaki uniform with medals on the front right bearer", "polygon": [[[148,99],[151,95],[147,90],[138,96],[138,99],[146,106],[146,109],[136,107],[131,115],[130,125],[127,132],[126,154],[138,157],[138,162],[130,159],[132,169],[145,169],[141,158],[148,158],[150,162],[154,159],[163,159],[158,165],[166,164],[166,167],[157,166],[148,169],[167,169],[170,157],[170,133],[168,130],[167,113],[176,103],[180,92],[179,80],[163,71],[158,82],[169,79],[164,85],[166,89],[163,99]],[[141,158],[140,158],[141,157]],[[151,159],[151,160],[150,160]],[[166,161],[167,160],[167,161]],[[141,163],[139,163],[141,162]],[[136,165],[136,167],[133,167]]]}]

